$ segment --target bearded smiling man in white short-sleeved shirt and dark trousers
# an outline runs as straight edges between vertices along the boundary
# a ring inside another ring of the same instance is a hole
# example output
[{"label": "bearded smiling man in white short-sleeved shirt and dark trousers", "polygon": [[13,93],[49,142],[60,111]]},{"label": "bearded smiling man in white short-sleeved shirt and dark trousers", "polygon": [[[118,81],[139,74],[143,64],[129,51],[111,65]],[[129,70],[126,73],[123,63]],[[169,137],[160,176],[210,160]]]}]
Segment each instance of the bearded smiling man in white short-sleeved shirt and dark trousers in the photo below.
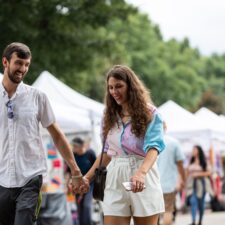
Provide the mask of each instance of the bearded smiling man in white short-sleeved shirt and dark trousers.
[{"label": "bearded smiling man in white short-sleeved shirt and dark trousers", "polygon": [[70,145],[55,123],[46,95],[22,81],[31,63],[31,52],[22,43],[9,44],[2,56],[0,83],[0,225],[32,225],[37,219],[46,154],[39,124],[47,128],[69,165],[73,191],[83,181]]}]

